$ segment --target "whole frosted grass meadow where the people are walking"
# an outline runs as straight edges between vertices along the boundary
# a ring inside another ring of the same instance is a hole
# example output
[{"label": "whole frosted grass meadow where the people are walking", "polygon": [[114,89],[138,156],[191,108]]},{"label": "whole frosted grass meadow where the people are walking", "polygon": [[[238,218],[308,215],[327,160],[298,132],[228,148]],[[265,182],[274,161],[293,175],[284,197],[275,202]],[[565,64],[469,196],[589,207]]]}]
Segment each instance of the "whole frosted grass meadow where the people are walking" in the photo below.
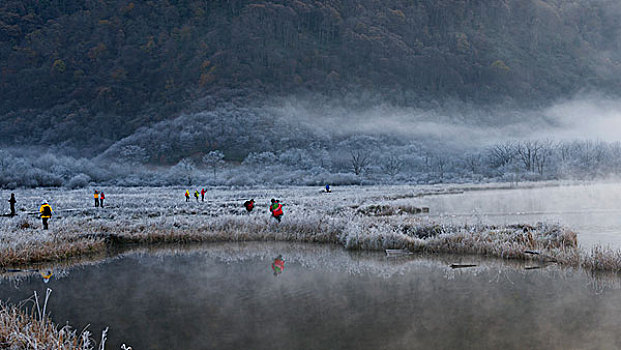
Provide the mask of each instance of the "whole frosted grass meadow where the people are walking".
[{"label": "whole frosted grass meadow where the people are walking", "polygon": [[[92,189],[17,191],[19,216],[0,218],[0,267],[98,255],[119,244],[226,241],[331,243],[350,250],[407,249],[581,264],[576,234],[563,227],[446,226],[411,214],[411,208],[424,206],[425,194],[471,187],[351,186],[330,194],[314,187],[209,188],[205,202],[185,202],[185,187],[104,187],[97,188],[106,193],[103,209],[94,208]],[[200,189],[188,187],[195,188]],[[250,198],[257,207],[247,214],[242,203]],[[280,224],[269,218],[270,198],[284,203]],[[36,216],[41,199],[54,209],[49,231],[40,229]],[[385,208],[386,215],[361,210],[372,206]],[[540,254],[525,253],[529,250]],[[582,265],[602,269],[610,264]]]}]

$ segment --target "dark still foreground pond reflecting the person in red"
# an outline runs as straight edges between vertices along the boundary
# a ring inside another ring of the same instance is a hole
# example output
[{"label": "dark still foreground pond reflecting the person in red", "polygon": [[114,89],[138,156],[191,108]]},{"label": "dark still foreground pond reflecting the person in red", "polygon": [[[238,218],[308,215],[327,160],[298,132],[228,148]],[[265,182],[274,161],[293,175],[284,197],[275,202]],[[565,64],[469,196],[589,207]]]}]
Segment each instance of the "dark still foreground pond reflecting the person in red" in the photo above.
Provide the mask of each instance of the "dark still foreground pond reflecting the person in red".
[{"label": "dark still foreground pond reflecting the person in red", "polygon": [[56,268],[49,283],[2,277],[0,300],[49,287],[52,318],[109,326],[107,349],[611,349],[621,347],[618,284],[476,257],[227,243]]}]

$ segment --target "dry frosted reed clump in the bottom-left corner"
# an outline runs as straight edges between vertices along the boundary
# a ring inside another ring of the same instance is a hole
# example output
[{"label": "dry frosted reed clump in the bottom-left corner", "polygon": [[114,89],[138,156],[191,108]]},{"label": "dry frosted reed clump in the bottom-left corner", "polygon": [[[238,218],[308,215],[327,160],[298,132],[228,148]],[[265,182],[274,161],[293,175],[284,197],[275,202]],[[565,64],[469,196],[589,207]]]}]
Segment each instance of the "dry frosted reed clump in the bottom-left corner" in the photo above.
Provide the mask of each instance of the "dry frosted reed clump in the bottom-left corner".
[{"label": "dry frosted reed clump in the bottom-left corner", "polygon": [[[46,315],[50,292],[48,289],[43,305],[39,305],[35,294],[35,305],[29,311],[0,301],[0,349],[95,349],[89,331],[59,328]],[[106,335],[107,329],[102,333],[100,349],[105,346]]]}]

